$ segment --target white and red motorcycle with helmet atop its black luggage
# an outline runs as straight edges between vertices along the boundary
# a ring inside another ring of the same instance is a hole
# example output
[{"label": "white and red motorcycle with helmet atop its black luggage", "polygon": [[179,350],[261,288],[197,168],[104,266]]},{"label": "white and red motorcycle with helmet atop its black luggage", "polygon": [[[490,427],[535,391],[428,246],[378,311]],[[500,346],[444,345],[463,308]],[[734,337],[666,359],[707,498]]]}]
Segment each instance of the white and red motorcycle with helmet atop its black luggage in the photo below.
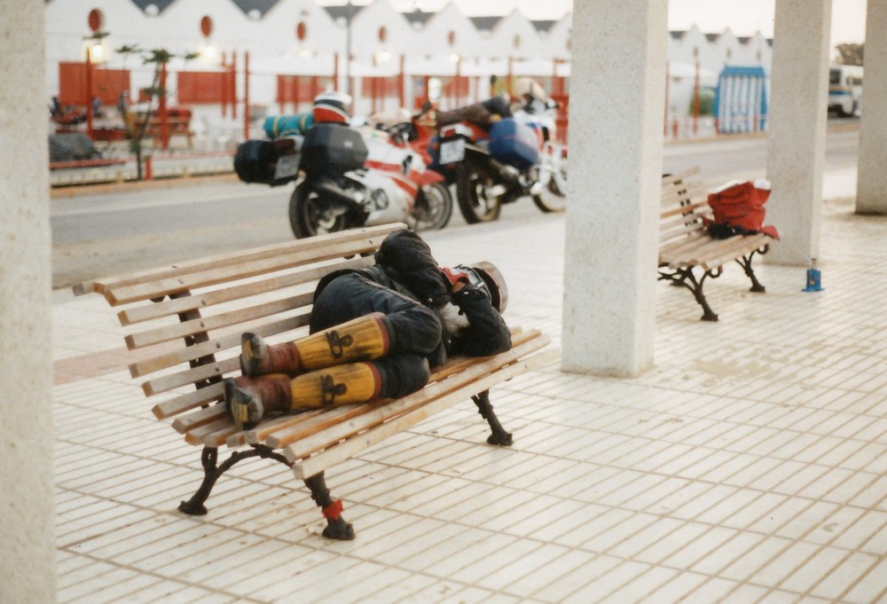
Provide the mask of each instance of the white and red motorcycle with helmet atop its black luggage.
[{"label": "white and red motorcycle with helmet atop its black luggage", "polygon": [[288,208],[296,239],[393,222],[441,228],[452,211],[449,191],[436,186],[443,177],[425,170],[412,150],[350,128],[348,104],[342,95],[324,94],[311,114],[268,118],[271,140],[239,145],[240,180],[296,181]]}]

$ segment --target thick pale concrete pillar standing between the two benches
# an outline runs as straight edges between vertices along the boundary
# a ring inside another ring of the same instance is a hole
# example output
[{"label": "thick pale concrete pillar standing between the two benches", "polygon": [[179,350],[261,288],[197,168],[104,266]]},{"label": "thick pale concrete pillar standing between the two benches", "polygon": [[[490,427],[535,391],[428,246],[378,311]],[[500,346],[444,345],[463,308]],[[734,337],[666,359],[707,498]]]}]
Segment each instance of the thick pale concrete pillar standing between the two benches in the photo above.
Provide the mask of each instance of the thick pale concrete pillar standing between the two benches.
[{"label": "thick pale concrete pillar standing between the two benches", "polygon": [[653,363],[667,0],[576,0],[562,369]]}]

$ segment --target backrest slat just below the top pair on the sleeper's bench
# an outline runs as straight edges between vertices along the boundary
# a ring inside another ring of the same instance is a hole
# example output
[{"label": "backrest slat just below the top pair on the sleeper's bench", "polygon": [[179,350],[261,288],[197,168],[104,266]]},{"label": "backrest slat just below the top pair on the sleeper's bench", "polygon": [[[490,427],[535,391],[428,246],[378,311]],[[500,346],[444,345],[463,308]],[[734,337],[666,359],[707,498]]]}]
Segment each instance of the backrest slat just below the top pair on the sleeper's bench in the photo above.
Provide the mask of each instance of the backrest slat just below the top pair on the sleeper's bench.
[{"label": "backrest slat just below the top pair on the sleeper's bench", "polygon": [[240,286],[224,287],[210,292],[167,299],[162,302],[150,302],[142,306],[121,310],[117,317],[122,326],[130,326],[141,321],[169,317],[188,310],[203,310],[223,302],[231,302],[251,295],[267,294],[288,286],[298,286],[325,276],[331,271],[341,269],[360,269],[373,265],[373,256],[363,256],[328,266],[312,267],[307,270],[293,272],[280,277],[254,281]]}]

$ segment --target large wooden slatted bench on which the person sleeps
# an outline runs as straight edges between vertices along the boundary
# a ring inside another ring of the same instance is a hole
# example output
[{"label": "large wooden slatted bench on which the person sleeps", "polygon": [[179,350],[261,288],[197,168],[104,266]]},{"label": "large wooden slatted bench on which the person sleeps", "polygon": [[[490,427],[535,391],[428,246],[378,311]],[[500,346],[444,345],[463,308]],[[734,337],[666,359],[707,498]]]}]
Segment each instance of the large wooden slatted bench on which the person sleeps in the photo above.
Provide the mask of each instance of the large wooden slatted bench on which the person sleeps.
[{"label": "large wooden slatted bench on which the person sleeps", "polygon": [[[371,265],[382,239],[404,227],[344,231],[75,286],[75,294],[97,292],[121,307],[124,340],[137,352],[130,374],[156,401],[153,414],[172,420],[186,443],[203,448],[203,482],[179,510],[206,514],[204,503],[227,469],[241,459],[274,459],[310,489],[327,519],[324,536],[349,539],[353,530],[326,488],[327,468],[469,397],[490,425],[488,442],[511,444],[489,389],[556,359],[555,350],[543,350],[549,338],[536,330],[513,328],[513,348],[493,357],[452,357],[425,388],[395,401],[282,415],[248,431],[228,417],[222,381],[239,375],[240,334],[258,333],[272,343],[306,334],[318,279]],[[233,452],[219,464],[222,447]]]}]

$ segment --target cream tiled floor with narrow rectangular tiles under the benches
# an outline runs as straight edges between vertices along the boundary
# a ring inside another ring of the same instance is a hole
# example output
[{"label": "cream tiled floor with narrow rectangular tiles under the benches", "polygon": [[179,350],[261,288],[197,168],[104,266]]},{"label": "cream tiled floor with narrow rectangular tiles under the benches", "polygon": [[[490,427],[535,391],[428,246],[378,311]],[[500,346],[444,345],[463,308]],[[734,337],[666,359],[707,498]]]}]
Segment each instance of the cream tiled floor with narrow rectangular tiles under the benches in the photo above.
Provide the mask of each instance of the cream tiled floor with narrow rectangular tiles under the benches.
[{"label": "cream tiled floor with narrow rectangular tiles under the benches", "polygon": [[[59,601],[887,600],[887,218],[851,210],[826,206],[825,291],[764,264],[767,293],[750,294],[734,266],[706,288],[711,324],[659,284],[642,377],[551,367],[495,390],[513,447],[485,444],[467,402],[334,468],[347,543],[319,537],[302,483],[261,460],[218,483],[207,516],[177,513],[199,450],[109,372],[105,302],[59,302]],[[498,263],[509,322],[557,341],[563,216],[534,216],[428,239],[443,263]]]}]

